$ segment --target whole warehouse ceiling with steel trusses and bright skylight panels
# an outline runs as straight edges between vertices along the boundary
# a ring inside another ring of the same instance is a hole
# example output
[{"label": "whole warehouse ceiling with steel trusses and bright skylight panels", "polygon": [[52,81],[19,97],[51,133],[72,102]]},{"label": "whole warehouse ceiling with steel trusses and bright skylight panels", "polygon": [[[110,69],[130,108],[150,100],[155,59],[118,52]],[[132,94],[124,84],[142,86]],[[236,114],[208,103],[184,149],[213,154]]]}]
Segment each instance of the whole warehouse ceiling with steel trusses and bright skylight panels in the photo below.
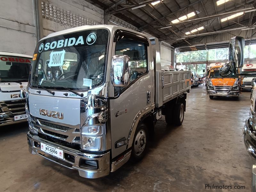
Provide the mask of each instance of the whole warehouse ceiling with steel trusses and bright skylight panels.
[{"label": "whole warehouse ceiling with steel trusses and bright skylight panels", "polygon": [[256,0],[87,1],[174,47],[256,38]]}]

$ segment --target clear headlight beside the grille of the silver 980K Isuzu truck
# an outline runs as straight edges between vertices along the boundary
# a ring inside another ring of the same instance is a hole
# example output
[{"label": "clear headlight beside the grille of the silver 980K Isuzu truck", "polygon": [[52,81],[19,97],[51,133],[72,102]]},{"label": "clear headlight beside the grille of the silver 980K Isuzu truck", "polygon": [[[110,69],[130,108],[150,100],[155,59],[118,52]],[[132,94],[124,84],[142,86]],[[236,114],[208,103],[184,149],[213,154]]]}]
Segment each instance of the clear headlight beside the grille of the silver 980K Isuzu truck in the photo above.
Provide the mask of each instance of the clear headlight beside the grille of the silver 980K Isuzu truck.
[{"label": "clear headlight beside the grille of the silver 980K Isuzu truck", "polygon": [[81,137],[84,150],[106,150],[104,145],[106,142],[105,124],[82,126]]}]

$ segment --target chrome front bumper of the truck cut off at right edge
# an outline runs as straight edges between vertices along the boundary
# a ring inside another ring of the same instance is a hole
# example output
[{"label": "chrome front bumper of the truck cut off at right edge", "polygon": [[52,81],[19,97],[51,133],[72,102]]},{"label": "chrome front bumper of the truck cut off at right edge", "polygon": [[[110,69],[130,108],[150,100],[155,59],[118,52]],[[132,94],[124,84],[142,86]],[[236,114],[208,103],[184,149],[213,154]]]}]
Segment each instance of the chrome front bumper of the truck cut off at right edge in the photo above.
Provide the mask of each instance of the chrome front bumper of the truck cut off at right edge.
[{"label": "chrome front bumper of the truck cut off at right edge", "polygon": [[250,156],[256,160],[256,136],[255,133],[252,132],[252,126],[249,122],[249,120],[245,121],[244,124],[244,145],[247,149],[247,152],[250,154]]}]

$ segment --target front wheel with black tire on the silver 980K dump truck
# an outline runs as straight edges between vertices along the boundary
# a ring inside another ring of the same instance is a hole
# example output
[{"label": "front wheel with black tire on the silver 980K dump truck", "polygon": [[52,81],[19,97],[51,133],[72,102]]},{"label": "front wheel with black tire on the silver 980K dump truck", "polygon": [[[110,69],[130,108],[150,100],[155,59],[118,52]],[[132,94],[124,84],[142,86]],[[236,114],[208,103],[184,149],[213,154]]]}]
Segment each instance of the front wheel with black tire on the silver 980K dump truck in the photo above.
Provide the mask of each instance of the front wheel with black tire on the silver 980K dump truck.
[{"label": "front wheel with black tire on the silver 980K dump truck", "polygon": [[146,124],[139,124],[132,142],[131,161],[138,162],[146,154],[148,149],[148,127]]}]

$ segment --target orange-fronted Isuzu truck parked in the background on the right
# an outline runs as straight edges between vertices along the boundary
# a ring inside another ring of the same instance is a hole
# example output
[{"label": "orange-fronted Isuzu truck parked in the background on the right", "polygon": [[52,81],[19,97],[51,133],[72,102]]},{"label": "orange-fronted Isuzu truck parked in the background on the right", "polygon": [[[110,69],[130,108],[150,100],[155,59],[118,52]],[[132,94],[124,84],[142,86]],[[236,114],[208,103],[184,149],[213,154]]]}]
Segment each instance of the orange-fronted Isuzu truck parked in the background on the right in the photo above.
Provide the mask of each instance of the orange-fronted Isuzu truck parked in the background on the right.
[{"label": "orange-fronted Isuzu truck parked in the background on the right", "polygon": [[210,99],[214,96],[238,97],[241,93],[242,81],[239,76],[231,74],[228,77],[220,76],[220,68],[224,63],[211,63],[207,68],[206,91]]}]

